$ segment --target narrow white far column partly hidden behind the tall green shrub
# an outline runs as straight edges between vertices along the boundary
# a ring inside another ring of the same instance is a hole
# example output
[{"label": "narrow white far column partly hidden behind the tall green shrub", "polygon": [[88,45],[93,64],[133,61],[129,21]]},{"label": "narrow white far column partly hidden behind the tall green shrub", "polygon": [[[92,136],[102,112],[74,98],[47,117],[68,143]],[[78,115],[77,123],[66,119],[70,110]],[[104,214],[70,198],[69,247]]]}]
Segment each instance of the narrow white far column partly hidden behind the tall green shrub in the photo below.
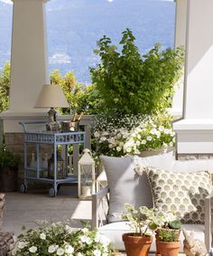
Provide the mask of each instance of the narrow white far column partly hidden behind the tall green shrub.
[{"label": "narrow white far column partly hidden behind the tall green shrub", "polygon": [[[175,36],[174,47],[183,46],[186,43],[186,24],[187,24],[187,0],[176,1],[175,14]],[[176,92],[173,97],[171,114],[175,117],[182,117],[183,102],[183,81],[176,85]]]}]

